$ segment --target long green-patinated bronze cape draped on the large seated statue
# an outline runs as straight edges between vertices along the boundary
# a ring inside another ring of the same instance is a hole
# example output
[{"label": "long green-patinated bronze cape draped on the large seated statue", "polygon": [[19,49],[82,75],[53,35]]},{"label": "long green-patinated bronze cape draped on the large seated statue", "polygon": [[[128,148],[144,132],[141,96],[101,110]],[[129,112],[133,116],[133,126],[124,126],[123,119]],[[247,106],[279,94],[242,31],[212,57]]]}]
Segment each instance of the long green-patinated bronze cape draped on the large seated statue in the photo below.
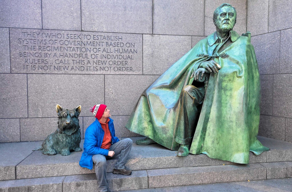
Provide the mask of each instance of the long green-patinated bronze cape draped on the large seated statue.
[{"label": "long green-patinated bronze cape draped on the large seated statue", "polygon": [[[190,76],[201,62],[210,58],[206,55],[214,55],[215,33],[199,41],[142,93],[126,128],[168,149],[178,150],[175,137],[182,114],[178,106],[180,92],[185,85],[192,84],[194,78]],[[269,150],[257,139],[260,119],[258,64],[250,36],[230,31],[230,38],[232,43],[215,53],[218,56],[215,62],[221,69],[219,73],[210,74],[190,153],[248,163],[249,151],[259,155]],[[221,53],[229,56],[220,57]]]}]

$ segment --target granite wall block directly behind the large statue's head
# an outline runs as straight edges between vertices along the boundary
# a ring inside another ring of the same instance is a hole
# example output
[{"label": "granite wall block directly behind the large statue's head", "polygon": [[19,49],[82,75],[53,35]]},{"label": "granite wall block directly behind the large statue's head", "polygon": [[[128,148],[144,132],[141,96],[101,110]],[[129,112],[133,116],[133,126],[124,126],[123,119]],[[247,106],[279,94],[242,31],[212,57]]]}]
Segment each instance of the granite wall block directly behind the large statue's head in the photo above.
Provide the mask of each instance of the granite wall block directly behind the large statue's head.
[{"label": "granite wall block directly behind the large statue's head", "polygon": [[213,13],[223,3],[229,3],[235,7],[237,16],[233,30],[238,34],[246,33],[246,0],[206,0],[205,1],[205,36],[216,31],[213,23]]}]

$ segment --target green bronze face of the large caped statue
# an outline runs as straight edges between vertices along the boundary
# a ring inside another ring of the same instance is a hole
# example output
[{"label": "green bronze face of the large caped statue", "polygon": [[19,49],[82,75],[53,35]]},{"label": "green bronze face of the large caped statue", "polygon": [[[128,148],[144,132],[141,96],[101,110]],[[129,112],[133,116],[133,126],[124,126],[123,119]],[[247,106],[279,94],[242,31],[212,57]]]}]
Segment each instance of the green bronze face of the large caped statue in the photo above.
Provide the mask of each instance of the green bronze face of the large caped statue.
[{"label": "green bronze face of the large caped statue", "polygon": [[214,20],[216,29],[220,29],[222,32],[229,32],[235,25],[236,15],[234,10],[230,6],[224,6],[219,10],[217,18]]}]

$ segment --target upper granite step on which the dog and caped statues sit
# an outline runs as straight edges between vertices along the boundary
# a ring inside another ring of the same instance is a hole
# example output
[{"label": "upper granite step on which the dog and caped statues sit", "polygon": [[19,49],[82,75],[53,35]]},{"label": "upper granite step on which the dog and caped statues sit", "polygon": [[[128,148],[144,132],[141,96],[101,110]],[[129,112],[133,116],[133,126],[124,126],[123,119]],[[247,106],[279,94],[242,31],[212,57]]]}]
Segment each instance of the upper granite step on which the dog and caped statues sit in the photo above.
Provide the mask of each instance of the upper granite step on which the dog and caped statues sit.
[{"label": "upper granite step on which the dog and caped statues sit", "polygon": [[[178,157],[176,151],[168,150],[159,144],[148,146],[135,144],[135,141],[141,138],[131,138],[134,144],[126,163],[131,170],[232,164],[228,161],[211,159],[204,154]],[[292,143],[266,137],[258,137],[258,139],[271,150],[259,156],[250,153],[250,163],[292,161]],[[83,142],[82,139],[81,148]],[[41,142],[0,143],[0,148],[3,149],[0,156],[0,180],[95,173],[94,170],[79,166],[82,151],[72,152],[69,156],[60,154],[47,156],[41,151],[31,151],[40,144]],[[112,172],[115,162],[116,159],[107,160],[107,172]]]}]

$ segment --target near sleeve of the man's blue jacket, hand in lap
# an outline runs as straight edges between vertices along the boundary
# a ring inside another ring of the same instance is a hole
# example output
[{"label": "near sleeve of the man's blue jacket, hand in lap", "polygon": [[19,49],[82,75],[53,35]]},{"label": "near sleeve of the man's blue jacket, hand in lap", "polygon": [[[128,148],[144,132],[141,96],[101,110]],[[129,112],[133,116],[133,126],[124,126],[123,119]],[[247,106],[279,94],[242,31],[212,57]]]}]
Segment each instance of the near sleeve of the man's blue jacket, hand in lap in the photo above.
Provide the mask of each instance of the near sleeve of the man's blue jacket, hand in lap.
[{"label": "near sleeve of the man's blue jacket, hand in lap", "polygon": [[[88,128],[87,128],[88,129]],[[84,139],[84,152],[89,155],[101,154],[107,156],[109,150],[97,147],[97,135],[92,129],[86,130]]]}]

